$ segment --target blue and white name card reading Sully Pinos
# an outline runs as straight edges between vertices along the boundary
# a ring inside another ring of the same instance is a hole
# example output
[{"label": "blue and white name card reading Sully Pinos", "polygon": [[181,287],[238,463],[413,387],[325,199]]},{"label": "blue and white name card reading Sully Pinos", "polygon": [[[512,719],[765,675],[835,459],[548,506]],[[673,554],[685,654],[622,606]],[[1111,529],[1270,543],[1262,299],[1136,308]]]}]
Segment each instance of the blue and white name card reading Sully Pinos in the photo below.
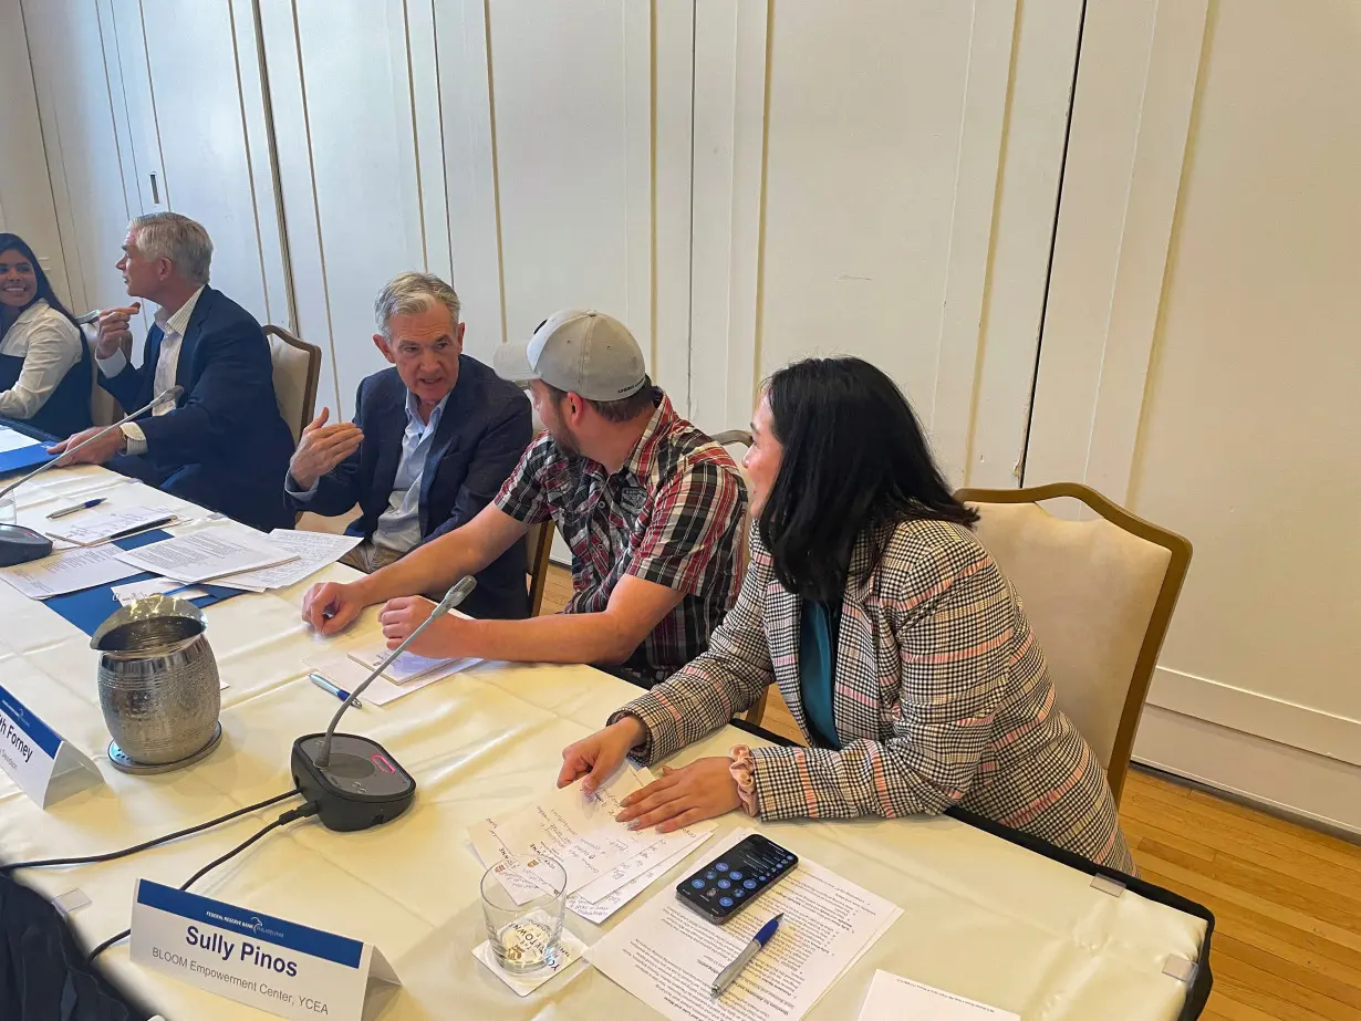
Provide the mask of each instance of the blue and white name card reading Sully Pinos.
[{"label": "blue and white name card reading Sully Pinos", "polygon": [[378,947],[137,881],[132,960],[290,1018],[359,1021],[369,982],[400,986]]}]

